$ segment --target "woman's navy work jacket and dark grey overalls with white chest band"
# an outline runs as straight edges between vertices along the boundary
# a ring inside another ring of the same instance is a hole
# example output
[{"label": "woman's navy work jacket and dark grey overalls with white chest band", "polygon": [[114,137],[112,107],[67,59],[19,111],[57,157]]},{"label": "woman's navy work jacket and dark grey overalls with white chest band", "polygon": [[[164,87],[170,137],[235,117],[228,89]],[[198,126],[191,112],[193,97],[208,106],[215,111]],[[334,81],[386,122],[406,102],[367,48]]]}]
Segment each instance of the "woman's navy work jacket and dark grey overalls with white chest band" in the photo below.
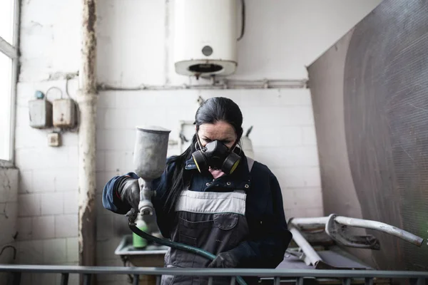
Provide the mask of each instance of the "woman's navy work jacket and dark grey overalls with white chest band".
[{"label": "woman's navy work jacket and dark grey overalls with white chest band", "polygon": [[[175,167],[173,163],[167,165],[163,176],[153,181],[154,187],[160,186],[153,205],[163,237],[215,255],[233,249],[242,261],[241,268],[275,268],[280,264],[291,234],[279,183],[265,165],[244,156],[232,175],[213,180],[210,175],[201,175],[188,160],[185,171],[192,172],[193,178],[180,193],[173,214],[163,210],[162,189],[168,190]],[[132,172],[127,175],[138,178]],[[113,177],[103,190],[104,207],[118,214],[130,209],[115,195],[116,182],[124,176]],[[165,267],[169,268],[204,268],[209,263],[204,257],[178,249],[165,254]],[[208,277],[163,276],[162,284],[208,284]],[[213,284],[230,284],[230,278],[215,277]]]}]

